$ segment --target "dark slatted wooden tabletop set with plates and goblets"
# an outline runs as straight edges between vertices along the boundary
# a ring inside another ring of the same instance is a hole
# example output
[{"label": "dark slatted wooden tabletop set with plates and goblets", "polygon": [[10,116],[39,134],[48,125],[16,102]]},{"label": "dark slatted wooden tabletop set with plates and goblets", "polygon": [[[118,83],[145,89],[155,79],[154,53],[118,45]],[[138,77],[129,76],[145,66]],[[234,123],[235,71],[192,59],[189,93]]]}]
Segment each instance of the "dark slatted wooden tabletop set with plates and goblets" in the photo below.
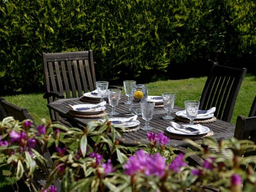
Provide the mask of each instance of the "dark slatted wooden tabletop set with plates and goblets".
[{"label": "dark slatted wooden tabletop set with plates and goblets", "polygon": [[[122,95],[118,106],[116,106],[116,112],[119,112],[124,116],[129,113],[129,110],[128,110],[129,105],[124,104],[124,102],[126,101],[127,101],[127,97]],[[76,126],[78,124],[85,126],[88,122],[92,120],[97,120],[97,119],[75,118],[71,116],[69,114],[68,104],[71,104],[71,105],[84,104],[84,102],[80,101],[79,98],[61,99],[48,104],[48,107],[58,112],[60,116],[62,116],[63,118],[66,118],[68,122],[70,122],[70,124],[72,124],[73,126]],[[107,112],[110,112],[112,110],[112,107],[109,106],[108,103],[106,105],[106,110]],[[177,112],[178,110],[182,110],[182,108],[175,106],[174,109],[172,110],[172,114],[175,114],[175,112]],[[154,132],[156,134],[158,134],[159,132],[166,132],[166,128],[170,125],[169,124],[170,120],[164,120],[162,118],[162,116],[164,116],[165,114],[166,114],[166,110],[164,110],[164,108],[162,107],[154,109],[153,118],[152,120],[150,120],[150,125],[153,126],[154,129],[149,130],[150,132]],[[112,117],[112,116],[109,116],[109,117]],[[145,125],[145,120],[143,120],[141,116],[139,116],[137,120],[140,121],[141,126]],[[204,125],[208,126],[214,132],[213,137],[216,138],[217,140],[222,140],[222,139],[230,138],[234,136],[234,129],[235,129],[234,124],[217,119],[215,122],[207,123]],[[138,144],[138,142],[144,143],[147,137],[147,132],[148,131],[141,130],[141,129],[134,132],[126,132],[123,134],[124,138],[122,139],[118,138],[118,139],[120,139],[122,144],[126,146],[134,146]],[[186,146],[186,144],[187,143],[183,140],[170,139],[168,146],[177,147],[177,146]]]}]

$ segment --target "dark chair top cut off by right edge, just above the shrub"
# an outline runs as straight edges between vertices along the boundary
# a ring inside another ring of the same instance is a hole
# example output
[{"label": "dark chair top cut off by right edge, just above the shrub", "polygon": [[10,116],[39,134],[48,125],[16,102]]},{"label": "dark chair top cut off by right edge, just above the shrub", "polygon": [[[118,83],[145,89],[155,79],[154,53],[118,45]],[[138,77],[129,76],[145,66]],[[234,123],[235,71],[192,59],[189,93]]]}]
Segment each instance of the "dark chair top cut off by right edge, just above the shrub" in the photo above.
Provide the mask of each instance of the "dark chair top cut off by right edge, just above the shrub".
[{"label": "dark chair top cut off by right edge, just above the shrub", "polygon": [[256,142],[256,116],[238,116],[234,137],[239,140],[249,139]]}]

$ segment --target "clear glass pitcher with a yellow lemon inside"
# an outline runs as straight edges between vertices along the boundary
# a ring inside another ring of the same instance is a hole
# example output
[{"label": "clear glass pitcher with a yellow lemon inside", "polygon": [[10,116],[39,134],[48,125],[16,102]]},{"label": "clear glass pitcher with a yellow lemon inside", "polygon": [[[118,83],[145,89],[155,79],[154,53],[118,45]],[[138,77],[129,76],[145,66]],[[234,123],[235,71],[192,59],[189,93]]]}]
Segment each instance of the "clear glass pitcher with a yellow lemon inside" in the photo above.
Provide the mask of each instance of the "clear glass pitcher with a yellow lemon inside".
[{"label": "clear glass pitcher with a yellow lemon inside", "polygon": [[144,84],[137,84],[134,86],[132,93],[132,102],[130,105],[130,112],[141,116],[140,103],[146,103],[148,98],[148,90]]}]

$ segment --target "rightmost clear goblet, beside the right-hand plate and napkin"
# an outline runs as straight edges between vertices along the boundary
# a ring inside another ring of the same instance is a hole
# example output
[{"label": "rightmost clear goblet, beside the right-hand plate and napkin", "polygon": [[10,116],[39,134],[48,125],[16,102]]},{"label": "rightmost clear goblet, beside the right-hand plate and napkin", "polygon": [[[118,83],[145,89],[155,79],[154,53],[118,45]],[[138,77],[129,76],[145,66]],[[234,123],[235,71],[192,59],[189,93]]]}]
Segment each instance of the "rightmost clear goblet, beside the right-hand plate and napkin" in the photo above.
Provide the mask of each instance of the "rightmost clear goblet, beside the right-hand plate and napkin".
[{"label": "rightmost clear goblet, beside the right-hand plate and napkin", "polygon": [[186,108],[186,114],[187,118],[190,120],[189,124],[194,124],[194,119],[196,119],[198,114],[198,108],[199,108],[199,101],[189,100],[185,101],[185,108]]}]

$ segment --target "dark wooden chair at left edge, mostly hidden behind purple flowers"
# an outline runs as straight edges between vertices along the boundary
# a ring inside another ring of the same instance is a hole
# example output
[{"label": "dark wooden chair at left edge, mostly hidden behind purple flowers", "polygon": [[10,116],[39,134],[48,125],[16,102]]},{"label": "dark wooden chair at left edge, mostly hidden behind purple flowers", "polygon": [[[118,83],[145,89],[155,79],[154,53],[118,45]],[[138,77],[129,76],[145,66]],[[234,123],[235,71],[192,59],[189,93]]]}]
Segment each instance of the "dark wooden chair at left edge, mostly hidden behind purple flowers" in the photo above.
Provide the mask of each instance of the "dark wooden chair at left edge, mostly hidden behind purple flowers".
[{"label": "dark wooden chair at left edge, mostly hidden behind purple flowers", "polygon": [[[26,108],[20,108],[12,103],[7,102],[4,98],[0,98],[0,120],[8,116],[13,116],[14,119],[19,121],[30,119],[33,121],[32,122],[33,126],[36,126],[32,116],[29,114]],[[36,143],[36,150],[40,152],[40,154],[44,152],[43,153],[44,158],[48,160],[49,164],[53,164],[50,152],[48,151],[47,148],[44,148],[43,145]],[[48,166],[50,166],[49,164]],[[41,172],[41,171],[36,172],[34,175],[33,183],[36,186],[38,186],[40,180],[46,179],[45,174],[49,175],[50,174],[49,170],[45,170],[45,172]],[[61,184],[59,180],[56,180],[56,182],[54,182],[54,186],[57,187],[58,192],[60,192]]]}]

